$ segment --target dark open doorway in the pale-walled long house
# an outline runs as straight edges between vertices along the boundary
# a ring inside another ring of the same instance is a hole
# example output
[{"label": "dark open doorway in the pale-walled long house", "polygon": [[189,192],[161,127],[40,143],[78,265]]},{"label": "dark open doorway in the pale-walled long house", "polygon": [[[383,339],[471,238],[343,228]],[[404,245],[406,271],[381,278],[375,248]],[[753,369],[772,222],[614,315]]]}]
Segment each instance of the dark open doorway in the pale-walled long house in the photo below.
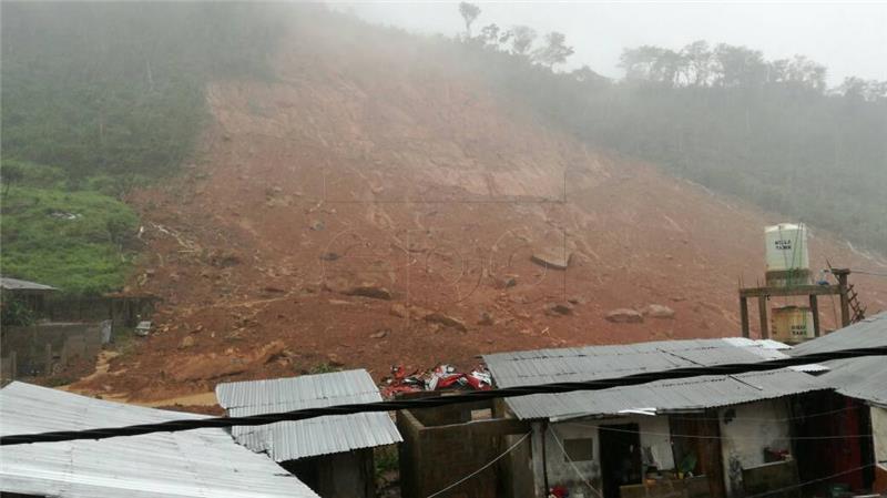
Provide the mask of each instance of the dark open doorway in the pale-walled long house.
[{"label": "dark open doorway in the pale-walled long house", "polygon": [[638,424],[598,428],[601,441],[601,484],[604,498],[620,498],[619,488],[642,481],[641,435]]}]

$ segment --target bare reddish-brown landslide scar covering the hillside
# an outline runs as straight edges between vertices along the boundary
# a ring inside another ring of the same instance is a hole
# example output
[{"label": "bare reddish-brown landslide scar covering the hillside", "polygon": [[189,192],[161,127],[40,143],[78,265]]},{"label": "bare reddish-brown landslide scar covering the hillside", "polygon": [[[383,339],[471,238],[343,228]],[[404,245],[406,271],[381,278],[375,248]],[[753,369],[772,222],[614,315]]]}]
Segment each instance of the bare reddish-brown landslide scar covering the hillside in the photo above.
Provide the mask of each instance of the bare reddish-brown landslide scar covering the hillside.
[{"label": "bare reddish-brown landslide scar covering the hillside", "polygon": [[[337,365],[378,378],[496,350],[738,334],[737,282],[763,277],[778,214],[590,149],[443,44],[336,22],[297,23],[268,81],[212,82],[200,159],[130,195],[145,250],[128,291],[164,302],[154,335],[75,389],[161,400]],[[817,268],[885,265],[824,232],[810,245]],[[564,250],[565,272],[530,261]],[[883,278],[854,282],[887,306]],[[604,318],[649,304],[676,315]]]}]

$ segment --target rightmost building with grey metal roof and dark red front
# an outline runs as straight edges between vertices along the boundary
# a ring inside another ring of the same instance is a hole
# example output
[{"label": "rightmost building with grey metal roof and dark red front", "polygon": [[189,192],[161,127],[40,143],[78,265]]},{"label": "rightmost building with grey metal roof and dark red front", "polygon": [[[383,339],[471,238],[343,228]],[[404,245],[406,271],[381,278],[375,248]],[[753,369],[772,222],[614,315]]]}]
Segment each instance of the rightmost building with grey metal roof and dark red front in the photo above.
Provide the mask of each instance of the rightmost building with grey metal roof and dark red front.
[{"label": "rightmost building with grey metal roof and dark red front", "polygon": [[[887,346],[887,313],[798,345],[789,354],[877,346]],[[819,380],[835,393],[804,398],[798,407],[806,415],[797,427],[799,453],[815,455],[802,460],[802,479],[814,481],[805,496],[840,488],[887,494],[887,359],[848,358],[825,366],[829,369]]]}]

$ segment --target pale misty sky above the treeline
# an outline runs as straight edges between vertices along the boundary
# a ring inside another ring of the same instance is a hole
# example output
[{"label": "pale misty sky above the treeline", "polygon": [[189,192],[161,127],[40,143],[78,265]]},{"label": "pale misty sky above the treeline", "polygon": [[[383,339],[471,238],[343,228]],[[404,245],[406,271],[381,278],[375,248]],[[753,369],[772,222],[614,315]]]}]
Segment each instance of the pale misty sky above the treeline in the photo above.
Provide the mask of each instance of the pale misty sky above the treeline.
[{"label": "pale misty sky above the treeline", "polygon": [[[829,84],[845,77],[887,80],[887,2],[476,2],[479,28],[527,24],[562,31],[575,48],[571,65],[589,64],[621,77],[624,47],[680,49],[704,39],[744,44],[767,59],[802,53],[828,67]],[[364,19],[418,32],[453,34],[465,29],[458,2],[337,3]]]}]

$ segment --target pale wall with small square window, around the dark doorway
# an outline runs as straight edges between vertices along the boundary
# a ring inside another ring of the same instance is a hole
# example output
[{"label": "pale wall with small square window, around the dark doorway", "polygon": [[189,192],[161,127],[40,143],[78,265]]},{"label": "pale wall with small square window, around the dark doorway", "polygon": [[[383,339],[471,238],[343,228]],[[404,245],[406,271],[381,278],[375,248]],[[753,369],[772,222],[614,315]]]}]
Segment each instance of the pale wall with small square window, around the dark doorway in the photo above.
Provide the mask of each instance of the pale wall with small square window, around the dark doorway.
[{"label": "pale wall with small square window, around the dark doorway", "polygon": [[[610,418],[603,420],[589,420],[580,423],[551,424],[546,430],[546,468],[549,486],[562,485],[570,489],[570,496],[581,498],[597,496],[588,489],[583,479],[588,480],[595,489],[601,489],[601,450],[598,427],[601,425],[638,424],[641,431],[641,447],[650,447],[653,458],[660,469],[673,469],[671,437],[669,433],[669,418],[665,416],[650,417],[643,415]],[[560,440],[560,445],[555,440]],[[589,461],[574,461],[575,468],[564,458],[564,439],[591,438],[594,459]],[[541,448],[533,448],[533,454],[541,455]],[[581,476],[580,476],[581,474]]]}]

